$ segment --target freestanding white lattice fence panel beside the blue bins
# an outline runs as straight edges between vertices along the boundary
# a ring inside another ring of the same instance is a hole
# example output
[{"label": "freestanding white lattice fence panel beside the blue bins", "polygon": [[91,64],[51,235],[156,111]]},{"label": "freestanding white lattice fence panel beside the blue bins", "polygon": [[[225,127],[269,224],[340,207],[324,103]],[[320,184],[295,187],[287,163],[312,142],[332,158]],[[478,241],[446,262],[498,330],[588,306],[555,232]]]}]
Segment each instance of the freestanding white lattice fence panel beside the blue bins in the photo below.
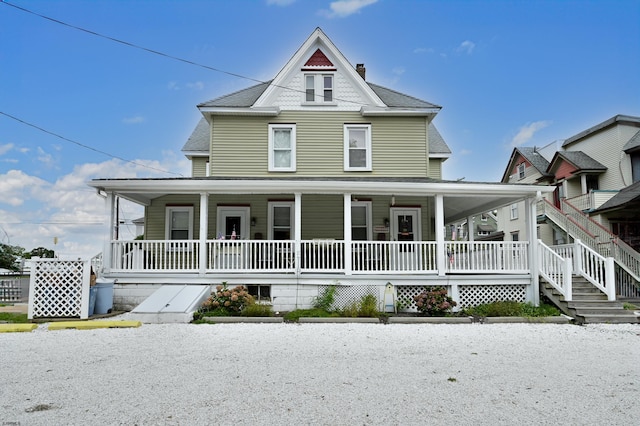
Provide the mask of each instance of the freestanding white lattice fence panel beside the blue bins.
[{"label": "freestanding white lattice fence panel beside the blue bins", "polygon": [[29,318],[80,317],[89,314],[88,260],[38,260],[31,269]]}]

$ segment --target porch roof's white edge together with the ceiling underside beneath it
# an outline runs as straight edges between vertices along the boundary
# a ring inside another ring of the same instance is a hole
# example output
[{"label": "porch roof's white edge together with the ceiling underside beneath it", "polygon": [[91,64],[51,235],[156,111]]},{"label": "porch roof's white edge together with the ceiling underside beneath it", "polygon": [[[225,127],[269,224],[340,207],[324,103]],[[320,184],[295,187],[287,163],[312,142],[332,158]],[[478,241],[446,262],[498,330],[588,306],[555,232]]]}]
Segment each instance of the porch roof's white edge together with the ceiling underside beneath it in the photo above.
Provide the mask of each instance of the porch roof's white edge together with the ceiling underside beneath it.
[{"label": "porch roof's white edge together with the ceiling underside beneath it", "polygon": [[88,183],[141,205],[170,194],[443,195],[446,222],[465,219],[541,193],[552,186],[441,181],[429,178],[169,178],[95,179]]}]

